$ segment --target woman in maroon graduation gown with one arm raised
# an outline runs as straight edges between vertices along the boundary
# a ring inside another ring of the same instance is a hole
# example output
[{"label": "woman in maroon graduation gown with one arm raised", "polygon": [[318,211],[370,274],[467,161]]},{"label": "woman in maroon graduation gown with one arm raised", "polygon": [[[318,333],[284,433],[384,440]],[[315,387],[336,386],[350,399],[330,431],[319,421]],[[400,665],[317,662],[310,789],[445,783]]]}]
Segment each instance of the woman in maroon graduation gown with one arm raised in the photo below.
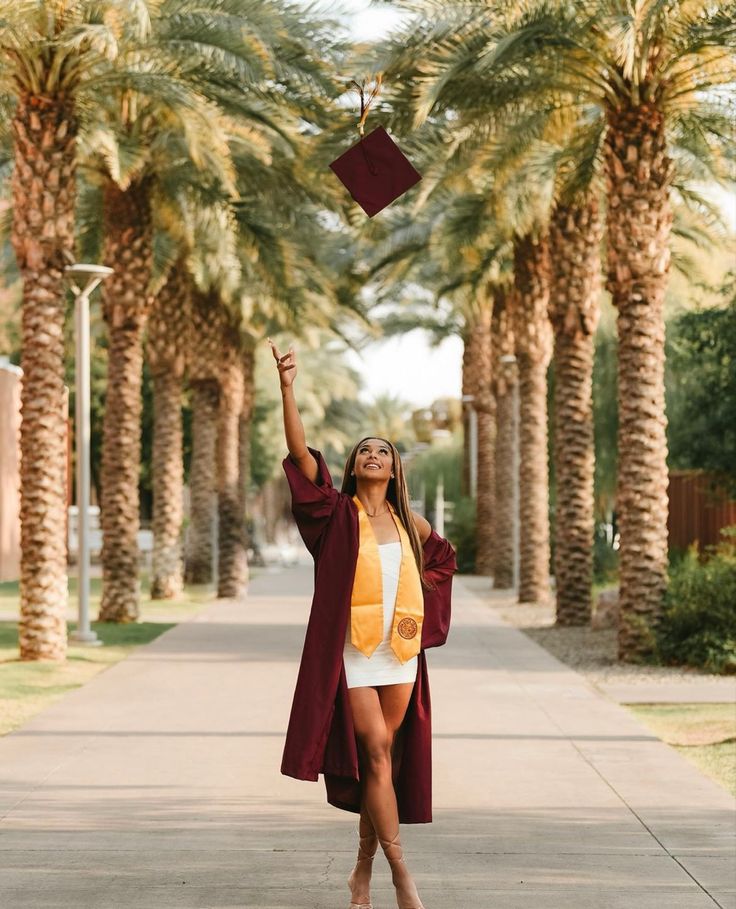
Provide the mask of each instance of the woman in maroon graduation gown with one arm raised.
[{"label": "woman in maroon graduation gown with one arm raised", "polygon": [[380,842],[399,909],[424,909],[404,862],[399,822],[432,820],[429,683],[424,650],[444,644],[455,553],[409,508],[399,452],[362,439],[337,491],[309,448],[294,398],[296,356],[273,342],[281,382],[284,459],[315,592],[281,772],[322,773],[330,804],[360,813],[350,909],[372,909]]}]

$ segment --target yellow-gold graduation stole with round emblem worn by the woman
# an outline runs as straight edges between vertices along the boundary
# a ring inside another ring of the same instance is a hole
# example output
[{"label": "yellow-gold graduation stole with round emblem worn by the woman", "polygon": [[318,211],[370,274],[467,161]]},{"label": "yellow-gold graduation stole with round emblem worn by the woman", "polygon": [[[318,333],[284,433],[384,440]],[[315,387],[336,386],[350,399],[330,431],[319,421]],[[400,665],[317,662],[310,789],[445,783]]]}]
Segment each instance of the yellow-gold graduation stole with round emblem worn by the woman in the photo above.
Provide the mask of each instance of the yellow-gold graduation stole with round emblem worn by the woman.
[{"label": "yellow-gold graduation stole with round emblem worn by the woman", "polygon": [[[361,653],[370,656],[383,640],[381,556],[363,503],[357,495],[353,496],[353,501],[358,508],[360,543],[350,597],[350,640]],[[421,648],[424,594],[409,534],[388,499],[386,504],[391,510],[401,540],[401,567],[391,628],[391,649],[399,661],[405,663],[416,656]]]}]

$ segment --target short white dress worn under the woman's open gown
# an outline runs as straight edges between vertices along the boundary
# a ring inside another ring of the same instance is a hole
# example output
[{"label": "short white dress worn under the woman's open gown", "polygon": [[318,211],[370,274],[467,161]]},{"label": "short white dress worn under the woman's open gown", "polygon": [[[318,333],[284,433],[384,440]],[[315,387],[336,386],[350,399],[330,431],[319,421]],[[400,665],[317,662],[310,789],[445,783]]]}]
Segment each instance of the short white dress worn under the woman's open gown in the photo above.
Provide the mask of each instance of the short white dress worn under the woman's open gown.
[{"label": "short white dress worn under the woman's open gown", "polygon": [[396,591],[401,568],[401,542],[397,540],[395,543],[380,543],[378,552],[381,557],[383,579],[383,640],[367,657],[351,643],[348,620],[343,649],[348,688],[358,688],[361,685],[397,685],[402,682],[413,682],[417,677],[417,657],[413,656],[406,663],[401,663],[391,649],[391,627],[394,622]]}]

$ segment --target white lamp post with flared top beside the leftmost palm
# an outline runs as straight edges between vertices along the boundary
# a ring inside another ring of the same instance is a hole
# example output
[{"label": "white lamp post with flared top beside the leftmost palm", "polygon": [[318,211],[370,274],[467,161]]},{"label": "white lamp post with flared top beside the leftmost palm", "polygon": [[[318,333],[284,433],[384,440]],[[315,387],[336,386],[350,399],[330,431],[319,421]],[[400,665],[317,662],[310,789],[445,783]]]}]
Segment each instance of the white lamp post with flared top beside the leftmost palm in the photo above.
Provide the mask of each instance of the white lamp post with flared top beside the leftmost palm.
[{"label": "white lamp post with flared top beside the leftmost palm", "polygon": [[89,487],[90,376],[89,297],[113,270],[106,265],[68,265],[64,269],[74,291],[76,328],[76,442],[77,442],[77,597],[79,620],[70,635],[78,644],[102,644],[89,627]]}]

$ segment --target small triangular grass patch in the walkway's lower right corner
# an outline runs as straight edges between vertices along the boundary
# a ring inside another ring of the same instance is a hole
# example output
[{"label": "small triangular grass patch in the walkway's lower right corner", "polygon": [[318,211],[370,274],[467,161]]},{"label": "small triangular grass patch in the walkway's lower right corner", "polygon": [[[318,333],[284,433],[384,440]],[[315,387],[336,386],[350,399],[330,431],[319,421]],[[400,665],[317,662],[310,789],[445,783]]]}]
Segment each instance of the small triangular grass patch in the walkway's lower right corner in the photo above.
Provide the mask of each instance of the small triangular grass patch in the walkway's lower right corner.
[{"label": "small triangular grass patch in the walkway's lower right corner", "polygon": [[736,796],[736,705],[625,706],[662,741]]}]

